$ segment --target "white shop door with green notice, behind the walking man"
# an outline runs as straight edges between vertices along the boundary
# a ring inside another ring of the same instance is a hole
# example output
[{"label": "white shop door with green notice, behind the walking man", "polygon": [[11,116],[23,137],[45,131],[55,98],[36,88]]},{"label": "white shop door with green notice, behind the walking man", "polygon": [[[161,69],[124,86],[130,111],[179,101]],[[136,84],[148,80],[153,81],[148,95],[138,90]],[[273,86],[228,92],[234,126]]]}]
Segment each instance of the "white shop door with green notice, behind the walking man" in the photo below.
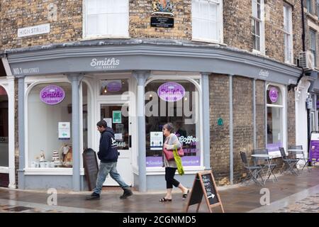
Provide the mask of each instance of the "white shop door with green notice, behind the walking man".
[{"label": "white shop door with green notice, behind the walking man", "polygon": [[[113,128],[116,143],[118,144],[118,173],[123,178],[124,182],[132,185],[133,171],[131,165],[131,150],[130,144],[130,117],[128,116],[128,104],[100,104],[101,119],[108,123],[108,126]],[[110,175],[106,177],[104,186],[118,186]]]}]

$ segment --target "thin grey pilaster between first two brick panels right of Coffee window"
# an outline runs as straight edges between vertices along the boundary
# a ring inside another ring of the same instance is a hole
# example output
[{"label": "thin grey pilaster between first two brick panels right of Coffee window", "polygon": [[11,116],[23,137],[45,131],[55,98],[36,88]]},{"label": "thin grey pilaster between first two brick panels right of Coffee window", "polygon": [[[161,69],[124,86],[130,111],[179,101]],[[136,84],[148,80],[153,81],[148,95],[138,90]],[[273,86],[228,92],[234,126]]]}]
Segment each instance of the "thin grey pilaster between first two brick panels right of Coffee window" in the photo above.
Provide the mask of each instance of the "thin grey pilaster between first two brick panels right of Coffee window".
[{"label": "thin grey pilaster between first two brick panels right of Coffee window", "polygon": [[233,74],[229,75],[229,160],[230,160],[230,184],[234,182],[234,146],[233,146]]}]

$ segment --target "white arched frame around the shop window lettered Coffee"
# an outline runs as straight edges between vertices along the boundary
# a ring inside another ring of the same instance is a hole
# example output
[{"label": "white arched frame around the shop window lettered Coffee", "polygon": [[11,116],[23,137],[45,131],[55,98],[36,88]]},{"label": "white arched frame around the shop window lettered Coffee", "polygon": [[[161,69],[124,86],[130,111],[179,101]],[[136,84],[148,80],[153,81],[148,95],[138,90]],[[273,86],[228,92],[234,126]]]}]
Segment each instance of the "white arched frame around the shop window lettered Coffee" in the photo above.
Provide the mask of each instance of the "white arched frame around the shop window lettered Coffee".
[{"label": "white arched frame around the shop window lettered Coffee", "polygon": [[[202,126],[203,125],[203,111],[202,111],[202,99],[201,99],[201,95],[202,95],[202,91],[201,91],[201,75],[196,75],[196,74],[192,74],[192,75],[187,75],[186,77],[181,77],[181,74],[177,75],[177,74],[156,74],[153,73],[149,79],[147,80],[147,82],[145,83],[145,87],[147,86],[147,84],[150,84],[150,82],[155,81],[155,80],[163,80],[163,82],[167,82],[169,80],[186,80],[192,84],[194,84],[194,86],[196,87],[197,91],[198,91],[198,98],[199,98],[199,102],[196,103],[196,108],[198,108],[198,117],[199,117],[199,125]],[[199,83],[197,82],[197,80],[199,81]],[[199,137],[202,138],[203,136],[203,128],[200,127],[199,129]],[[185,166],[184,167],[184,171],[186,175],[190,175],[190,174],[196,174],[196,172],[198,171],[203,171],[205,170],[204,167],[204,161],[203,161],[203,139],[200,140],[201,141],[201,163],[198,166]],[[146,167],[146,175],[163,175],[165,172],[164,167]]]}]

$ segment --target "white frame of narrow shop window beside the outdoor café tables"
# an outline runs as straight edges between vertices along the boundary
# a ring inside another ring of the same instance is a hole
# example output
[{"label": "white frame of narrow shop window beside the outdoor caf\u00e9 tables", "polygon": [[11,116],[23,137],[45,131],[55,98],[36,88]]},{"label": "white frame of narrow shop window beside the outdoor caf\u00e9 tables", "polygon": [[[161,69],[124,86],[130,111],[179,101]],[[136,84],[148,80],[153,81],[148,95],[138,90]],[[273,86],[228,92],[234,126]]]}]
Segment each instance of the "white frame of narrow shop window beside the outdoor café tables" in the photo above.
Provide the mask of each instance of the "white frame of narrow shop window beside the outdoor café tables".
[{"label": "white frame of narrow shop window beside the outdoor caf\u00e9 tables", "polygon": [[[267,104],[267,97],[265,97],[266,99],[266,121],[267,121],[267,108],[268,107],[276,107],[276,108],[281,108],[281,138],[282,138],[282,145],[285,149],[287,149],[287,112],[286,112],[286,87],[284,87],[284,85],[281,85],[281,84],[275,84],[275,83],[268,83],[267,84],[267,87],[266,87],[266,91],[268,90],[268,87],[269,86],[275,86],[275,87],[278,87],[280,89],[280,92],[281,92],[281,105],[278,105],[278,104]],[[267,94],[267,92],[266,92]],[[266,135],[267,135],[267,125],[266,125]],[[267,137],[266,137],[267,138]],[[266,146],[268,144],[268,141],[266,141]],[[275,157],[281,157],[281,153],[278,150],[276,151],[272,151],[271,153],[272,155],[272,158],[275,158]]]}]

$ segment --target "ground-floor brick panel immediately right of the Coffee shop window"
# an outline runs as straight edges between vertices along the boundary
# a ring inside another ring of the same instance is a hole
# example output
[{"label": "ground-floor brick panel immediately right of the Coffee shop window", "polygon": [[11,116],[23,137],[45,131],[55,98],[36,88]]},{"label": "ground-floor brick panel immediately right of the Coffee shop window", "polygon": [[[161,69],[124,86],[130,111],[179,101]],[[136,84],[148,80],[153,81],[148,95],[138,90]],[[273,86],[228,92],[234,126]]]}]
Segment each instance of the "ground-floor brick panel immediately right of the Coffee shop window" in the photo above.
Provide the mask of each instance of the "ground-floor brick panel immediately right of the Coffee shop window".
[{"label": "ground-floor brick panel immediately right of the Coffee shop window", "polygon": [[[211,168],[216,184],[229,184],[230,137],[229,137],[229,77],[211,74],[210,125],[211,125]],[[223,126],[218,126],[218,118],[223,118]]]}]

